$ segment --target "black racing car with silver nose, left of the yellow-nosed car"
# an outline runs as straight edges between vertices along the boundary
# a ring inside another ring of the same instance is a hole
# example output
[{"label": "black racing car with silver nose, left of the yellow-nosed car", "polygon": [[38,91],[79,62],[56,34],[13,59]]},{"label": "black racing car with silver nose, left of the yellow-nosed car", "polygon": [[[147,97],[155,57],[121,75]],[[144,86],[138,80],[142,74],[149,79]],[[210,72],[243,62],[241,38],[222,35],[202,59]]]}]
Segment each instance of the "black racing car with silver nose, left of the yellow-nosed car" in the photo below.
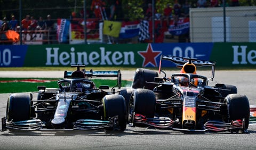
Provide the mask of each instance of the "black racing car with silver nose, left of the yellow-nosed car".
[{"label": "black racing car with silver nose, left of the yellow-nosed car", "polygon": [[[59,88],[38,86],[38,96],[11,94],[7,100],[6,117],[2,118],[2,130],[118,130],[126,129],[126,104],[122,95],[115,94],[121,88],[120,71],[85,71],[72,65],[76,71],[65,71],[57,81]],[[94,77],[117,77],[117,85],[98,88]]]}]

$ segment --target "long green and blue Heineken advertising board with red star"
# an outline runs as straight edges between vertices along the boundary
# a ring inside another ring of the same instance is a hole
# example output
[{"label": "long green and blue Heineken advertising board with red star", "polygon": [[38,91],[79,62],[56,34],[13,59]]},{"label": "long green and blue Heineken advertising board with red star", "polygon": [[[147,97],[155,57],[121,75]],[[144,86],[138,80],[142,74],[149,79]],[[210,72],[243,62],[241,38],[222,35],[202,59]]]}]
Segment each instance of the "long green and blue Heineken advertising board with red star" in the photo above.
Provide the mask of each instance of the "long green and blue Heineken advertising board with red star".
[{"label": "long green and blue Heineken advertising board with red star", "polygon": [[[162,54],[215,61],[217,66],[255,68],[255,43],[163,43],[94,45],[1,45],[0,66],[158,67]],[[162,66],[172,66],[163,61]]]}]

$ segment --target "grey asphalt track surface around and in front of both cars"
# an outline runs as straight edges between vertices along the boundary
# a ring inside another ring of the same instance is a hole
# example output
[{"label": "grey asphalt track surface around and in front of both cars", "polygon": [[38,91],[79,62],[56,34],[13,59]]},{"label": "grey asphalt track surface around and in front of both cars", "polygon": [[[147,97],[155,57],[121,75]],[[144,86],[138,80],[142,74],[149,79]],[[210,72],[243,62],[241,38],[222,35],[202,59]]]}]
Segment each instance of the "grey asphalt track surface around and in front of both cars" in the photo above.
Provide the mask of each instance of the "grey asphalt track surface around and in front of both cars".
[{"label": "grey asphalt track surface around and in front of both cars", "polygon": [[[134,71],[121,71],[122,79],[131,80]],[[167,74],[177,72],[167,72]],[[197,71],[198,74],[199,71]],[[204,76],[209,72],[202,71]],[[256,71],[215,71],[210,85],[235,85],[256,105],[254,80]],[[62,78],[63,71],[0,71],[0,77]],[[6,100],[10,94],[0,94],[0,116],[5,116]],[[256,126],[249,134],[198,133],[150,128],[127,127],[122,133],[99,131],[69,132],[0,132],[0,149],[256,149]]]}]

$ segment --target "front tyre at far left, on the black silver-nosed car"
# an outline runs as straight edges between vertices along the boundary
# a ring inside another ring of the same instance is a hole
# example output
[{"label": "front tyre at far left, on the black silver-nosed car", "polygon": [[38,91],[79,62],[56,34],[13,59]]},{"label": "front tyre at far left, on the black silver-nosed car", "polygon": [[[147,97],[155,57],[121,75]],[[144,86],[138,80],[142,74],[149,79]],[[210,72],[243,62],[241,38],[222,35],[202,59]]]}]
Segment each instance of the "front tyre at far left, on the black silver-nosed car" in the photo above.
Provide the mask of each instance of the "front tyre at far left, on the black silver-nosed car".
[{"label": "front tyre at far left, on the black silver-nosed car", "polygon": [[7,121],[24,121],[30,119],[31,99],[29,95],[20,93],[12,94],[7,100]]}]

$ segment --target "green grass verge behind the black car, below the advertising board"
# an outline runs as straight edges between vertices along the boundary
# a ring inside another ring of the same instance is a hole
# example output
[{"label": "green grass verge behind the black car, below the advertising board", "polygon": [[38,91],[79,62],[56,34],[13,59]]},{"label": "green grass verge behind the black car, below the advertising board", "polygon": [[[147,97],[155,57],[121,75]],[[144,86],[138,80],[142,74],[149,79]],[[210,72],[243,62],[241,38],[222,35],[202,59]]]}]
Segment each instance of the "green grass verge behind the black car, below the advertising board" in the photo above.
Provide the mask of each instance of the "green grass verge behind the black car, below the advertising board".
[{"label": "green grass verge behind the black car, below the advertising board", "polygon": [[[37,86],[46,86],[49,88],[58,88],[57,80],[58,79],[49,79],[49,78],[39,78],[42,80],[52,80],[51,82],[43,83],[31,83],[31,82],[1,82],[1,81],[13,81],[13,80],[24,80],[31,78],[0,78],[0,93],[21,93],[21,92],[30,92],[38,91]],[[35,78],[33,78],[35,79]],[[38,79],[38,78],[37,78]],[[109,87],[114,87],[117,84],[116,80],[109,79],[93,79],[97,88],[100,85],[109,85]],[[132,81],[122,80],[122,87],[131,87]]]}]

